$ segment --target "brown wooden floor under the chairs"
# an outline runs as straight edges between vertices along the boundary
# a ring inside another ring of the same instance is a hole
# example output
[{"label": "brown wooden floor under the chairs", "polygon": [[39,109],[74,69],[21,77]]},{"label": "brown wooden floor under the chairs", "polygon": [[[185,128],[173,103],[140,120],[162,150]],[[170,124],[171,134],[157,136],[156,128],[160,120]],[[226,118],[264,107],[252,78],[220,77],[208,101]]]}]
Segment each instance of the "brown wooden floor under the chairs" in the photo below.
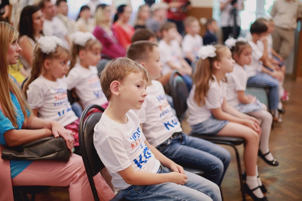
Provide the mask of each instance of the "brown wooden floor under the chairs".
[{"label": "brown wooden floor under the chairs", "polygon": [[[278,159],[277,167],[267,165],[258,159],[258,169],[262,182],[268,189],[269,200],[302,200],[302,81],[287,77],[284,88],[290,92],[290,100],[284,103],[286,113],[283,123],[275,124],[270,136],[270,151]],[[189,126],[183,123],[185,132]],[[222,182],[225,201],[242,200],[234,151],[224,146],[232,156],[231,164]],[[243,146],[239,146],[243,155]],[[241,159],[243,167],[243,159]],[[244,170],[244,167],[243,167]],[[246,195],[247,200],[252,200]],[[51,187],[36,195],[36,200],[69,200],[67,187]]]}]

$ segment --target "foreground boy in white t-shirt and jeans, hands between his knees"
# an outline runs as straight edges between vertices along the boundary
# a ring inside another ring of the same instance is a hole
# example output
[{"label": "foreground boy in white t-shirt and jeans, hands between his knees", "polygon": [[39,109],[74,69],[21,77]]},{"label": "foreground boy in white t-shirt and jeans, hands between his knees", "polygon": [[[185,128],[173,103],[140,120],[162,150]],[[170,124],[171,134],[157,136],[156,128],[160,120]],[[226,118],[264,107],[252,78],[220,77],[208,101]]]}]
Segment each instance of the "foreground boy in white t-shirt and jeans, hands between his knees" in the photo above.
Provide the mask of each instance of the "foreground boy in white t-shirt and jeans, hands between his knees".
[{"label": "foreground boy in white t-shirt and jeans, hands between his knees", "polygon": [[94,128],[93,142],[112,184],[126,199],[221,200],[216,184],[184,172],[146,140],[131,109],[144,103],[148,79],[145,68],[128,58],[112,60],[102,71],[109,105]]}]

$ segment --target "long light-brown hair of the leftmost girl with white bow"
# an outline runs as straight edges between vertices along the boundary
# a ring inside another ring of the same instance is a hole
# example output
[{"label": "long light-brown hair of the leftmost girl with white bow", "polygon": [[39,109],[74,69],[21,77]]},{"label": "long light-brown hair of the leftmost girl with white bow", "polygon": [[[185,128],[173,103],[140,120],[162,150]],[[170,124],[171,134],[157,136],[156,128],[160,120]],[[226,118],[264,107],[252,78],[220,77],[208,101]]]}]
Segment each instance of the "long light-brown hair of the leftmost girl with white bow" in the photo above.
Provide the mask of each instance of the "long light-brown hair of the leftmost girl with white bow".
[{"label": "long light-brown hair of the leftmost girl with white bow", "polygon": [[42,73],[44,69],[44,61],[46,59],[58,59],[58,58],[71,58],[70,51],[67,50],[65,47],[57,45],[55,48],[55,52],[51,52],[49,54],[46,54],[41,51],[39,43],[36,45],[34,50],[34,57],[33,57],[33,64],[31,68],[31,75],[27,79],[27,81],[24,83],[23,86],[23,92],[25,94],[25,97],[27,97],[27,89],[31,82],[33,82],[35,79],[37,79]]}]

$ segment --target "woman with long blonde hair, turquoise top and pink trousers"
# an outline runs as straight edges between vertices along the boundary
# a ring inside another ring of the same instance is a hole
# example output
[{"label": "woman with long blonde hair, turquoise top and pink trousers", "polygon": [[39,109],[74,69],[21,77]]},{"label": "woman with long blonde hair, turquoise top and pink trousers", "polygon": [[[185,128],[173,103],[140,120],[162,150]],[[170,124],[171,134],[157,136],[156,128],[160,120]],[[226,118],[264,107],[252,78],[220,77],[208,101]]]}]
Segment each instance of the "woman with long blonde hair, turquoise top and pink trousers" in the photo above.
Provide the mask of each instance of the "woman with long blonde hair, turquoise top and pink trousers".
[{"label": "woman with long blonde hair, turquoise top and pink trousers", "polygon": [[[10,24],[0,22],[0,155],[4,145],[10,147],[40,138],[61,136],[72,151],[72,131],[56,121],[43,120],[32,115],[14,79],[8,74],[8,65],[15,64],[21,51],[18,32]],[[0,156],[0,200],[13,200],[12,186],[68,186],[70,200],[92,200],[83,160],[72,154],[68,162],[13,161]],[[94,177],[101,200],[114,196],[100,174]]]}]

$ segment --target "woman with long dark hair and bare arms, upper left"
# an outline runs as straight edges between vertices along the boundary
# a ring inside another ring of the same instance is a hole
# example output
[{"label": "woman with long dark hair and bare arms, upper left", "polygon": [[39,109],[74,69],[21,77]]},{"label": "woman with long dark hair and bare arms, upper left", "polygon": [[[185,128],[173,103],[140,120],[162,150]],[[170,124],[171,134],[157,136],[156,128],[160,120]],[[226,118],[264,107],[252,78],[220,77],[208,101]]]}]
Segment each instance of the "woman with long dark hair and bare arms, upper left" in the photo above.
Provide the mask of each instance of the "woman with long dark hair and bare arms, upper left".
[{"label": "woman with long dark hair and bare arms, upper left", "polygon": [[30,74],[32,57],[37,41],[43,36],[43,14],[38,6],[25,6],[20,15],[19,22],[19,45],[21,47],[20,60]]}]

